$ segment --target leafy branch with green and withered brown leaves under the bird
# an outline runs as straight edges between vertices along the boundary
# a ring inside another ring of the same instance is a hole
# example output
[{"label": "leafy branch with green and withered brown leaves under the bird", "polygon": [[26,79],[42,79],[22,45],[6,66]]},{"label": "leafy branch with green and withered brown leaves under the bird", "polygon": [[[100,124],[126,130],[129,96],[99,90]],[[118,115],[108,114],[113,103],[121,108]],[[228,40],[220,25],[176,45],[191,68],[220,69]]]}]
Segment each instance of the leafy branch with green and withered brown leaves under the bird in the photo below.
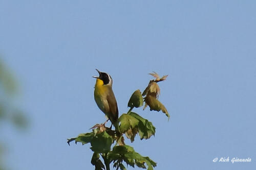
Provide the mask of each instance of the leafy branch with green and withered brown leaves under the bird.
[{"label": "leafy branch with green and withered brown leaves under the bird", "polygon": [[91,163],[95,166],[96,170],[109,170],[111,163],[113,163],[114,168],[120,168],[121,170],[126,169],[123,164],[124,162],[127,166],[130,165],[132,167],[136,165],[140,168],[146,168],[147,166],[148,170],[152,170],[157,165],[157,163],[149,157],[141,156],[139,153],[135,152],[131,146],[125,144],[123,137],[125,134],[126,138],[133,142],[136,135],[139,135],[141,140],[149,139],[151,136],[155,135],[156,128],[153,124],[139,114],[132,112],[134,108],[143,106],[143,103],[143,110],[149,106],[151,111],[161,110],[168,119],[170,117],[164,105],[158,101],[160,88],[157,83],[164,81],[167,76],[160,78],[156,72],[150,75],[155,77],[155,80],[151,80],[148,83],[148,86],[142,94],[140,90],[136,90],[132,94],[128,102],[128,107],[130,107],[129,111],[123,113],[118,119],[118,132],[105,127],[105,124],[96,124],[91,128],[92,132],[83,133],[76,138],[68,139],[68,144],[72,141],[75,141],[75,143],[91,144],[90,149],[94,152]]}]

